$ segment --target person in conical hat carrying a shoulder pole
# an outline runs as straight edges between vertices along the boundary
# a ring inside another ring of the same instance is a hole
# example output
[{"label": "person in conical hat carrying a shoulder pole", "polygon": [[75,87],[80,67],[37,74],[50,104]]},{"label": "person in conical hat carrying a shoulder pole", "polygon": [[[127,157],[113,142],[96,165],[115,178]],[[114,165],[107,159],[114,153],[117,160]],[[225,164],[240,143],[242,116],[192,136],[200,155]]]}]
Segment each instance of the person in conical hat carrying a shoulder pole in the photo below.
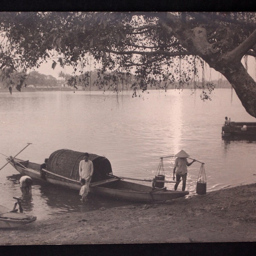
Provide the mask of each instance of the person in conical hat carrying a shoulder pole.
[{"label": "person in conical hat carrying a shoulder pole", "polygon": [[195,162],[195,159],[189,163],[186,159],[186,157],[189,157],[189,154],[187,154],[184,150],[180,150],[179,153],[175,154],[175,165],[173,169],[173,180],[175,180],[175,173],[176,173],[176,183],[174,186],[174,189],[177,190],[177,187],[180,183],[180,178],[182,177],[182,191],[185,191],[186,189],[186,177],[188,174],[187,166],[191,166],[192,163]]}]

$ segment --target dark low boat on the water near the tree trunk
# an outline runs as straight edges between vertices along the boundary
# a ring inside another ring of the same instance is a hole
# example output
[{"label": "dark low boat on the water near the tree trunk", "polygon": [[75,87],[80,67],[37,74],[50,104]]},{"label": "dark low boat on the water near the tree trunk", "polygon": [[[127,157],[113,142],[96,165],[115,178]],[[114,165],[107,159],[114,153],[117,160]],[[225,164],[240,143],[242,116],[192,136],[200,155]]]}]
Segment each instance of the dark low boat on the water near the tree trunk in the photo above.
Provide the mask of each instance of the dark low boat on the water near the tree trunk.
[{"label": "dark low boat on the water near the tree trunk", "polygon": [[230,122],[230,125],[222,126],[221,135],[223,138],[256,136],[256,122]]}]

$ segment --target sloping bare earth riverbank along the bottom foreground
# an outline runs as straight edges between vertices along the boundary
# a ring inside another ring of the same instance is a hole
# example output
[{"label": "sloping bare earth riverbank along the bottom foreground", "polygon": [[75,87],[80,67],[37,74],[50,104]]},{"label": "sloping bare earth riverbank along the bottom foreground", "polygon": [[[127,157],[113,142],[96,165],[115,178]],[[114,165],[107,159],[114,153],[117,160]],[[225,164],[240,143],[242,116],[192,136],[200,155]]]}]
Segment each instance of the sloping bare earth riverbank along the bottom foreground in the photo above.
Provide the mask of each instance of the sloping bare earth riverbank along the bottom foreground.
[{"label": "sloping bare earth riverbank along the bottom foreground", "polygon": [[179,198],[69,213],[1,230],[0,244],[256,241],[256,183]]}]

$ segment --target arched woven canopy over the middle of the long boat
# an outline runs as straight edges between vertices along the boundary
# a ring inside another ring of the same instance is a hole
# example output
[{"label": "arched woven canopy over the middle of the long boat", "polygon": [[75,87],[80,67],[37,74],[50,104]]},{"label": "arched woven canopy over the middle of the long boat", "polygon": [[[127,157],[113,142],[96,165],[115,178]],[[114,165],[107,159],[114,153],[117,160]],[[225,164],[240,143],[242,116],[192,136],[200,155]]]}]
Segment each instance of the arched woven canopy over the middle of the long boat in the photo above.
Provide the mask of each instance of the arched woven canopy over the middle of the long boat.
[{"label": "arched woven canopy over the middle of the long boat", "polygon": [[[54,151],[47,161],[47,171],[73,180],[79,180],[79,163],[83,160],[84,152],[70,149]],[[106,157],[89,153],[89,160],[93,162],[92,182],[108,179],[112,174],[111,163]]]}]

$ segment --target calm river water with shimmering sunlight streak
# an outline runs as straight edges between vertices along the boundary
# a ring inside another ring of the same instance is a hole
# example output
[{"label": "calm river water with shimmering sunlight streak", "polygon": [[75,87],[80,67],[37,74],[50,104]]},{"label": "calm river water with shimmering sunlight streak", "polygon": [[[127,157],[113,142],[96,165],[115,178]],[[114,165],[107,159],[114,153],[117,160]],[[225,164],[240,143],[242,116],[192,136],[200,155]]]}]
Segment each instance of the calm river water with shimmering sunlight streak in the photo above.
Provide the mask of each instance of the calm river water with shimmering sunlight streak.
[{"label": "calm river water with shimmering sunlight streak", "polygon": [[[153,178],[159,157],[183,149],[205,163],[207,191],[256,182],[256,143],[221,139],[225,116],[237,122],[256,121],[231,89],[216,89],[208,102],[201,101],[199,91],[190,90],[150,90],[136,99],[131,94],[0,93],[0,153],[14,156],[29,142],[33,144],[19,158],[43,163],[57,149],[87,151],[107,157],[114,175]],[[166,180],[172,179],[174,160],[164,159]],[[4,163],[0,155],[0,166]],[[190,194],[195,193],[200,167],[199,163],[188,167]],[[20,196],[19,178],[10,165],[0,171],[1,205],[10,208],[12,196]],[[81,204],[76,192],[36,182],[32,195],[33,200],[23,206],[38,218],[124,204],[98,197]]]}]

